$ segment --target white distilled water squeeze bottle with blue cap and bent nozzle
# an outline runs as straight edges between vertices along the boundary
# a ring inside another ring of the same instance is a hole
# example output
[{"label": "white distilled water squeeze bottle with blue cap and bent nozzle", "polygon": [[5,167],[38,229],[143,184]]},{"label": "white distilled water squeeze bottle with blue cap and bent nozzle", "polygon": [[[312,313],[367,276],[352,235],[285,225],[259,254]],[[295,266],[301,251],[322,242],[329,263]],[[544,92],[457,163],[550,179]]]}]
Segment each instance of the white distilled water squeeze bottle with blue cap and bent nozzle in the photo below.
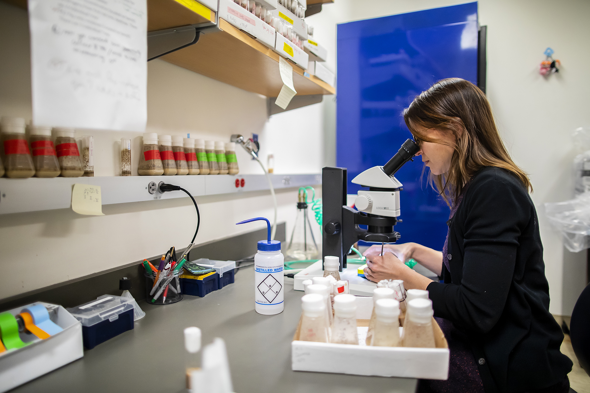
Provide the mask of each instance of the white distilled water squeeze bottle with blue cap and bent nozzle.
[{"label": "white distilled water squeeze bottle with blue cap and bent nozzle", "polygon": [[251,218],[238,222],[245,224],[252,221],[266,221],[267,240],[258,241],[258,252],[254,256],[254,309],[263,315],[274,315],[284,309],[284,256],[281,242],[271,240],[270,221],[264,217]]}]

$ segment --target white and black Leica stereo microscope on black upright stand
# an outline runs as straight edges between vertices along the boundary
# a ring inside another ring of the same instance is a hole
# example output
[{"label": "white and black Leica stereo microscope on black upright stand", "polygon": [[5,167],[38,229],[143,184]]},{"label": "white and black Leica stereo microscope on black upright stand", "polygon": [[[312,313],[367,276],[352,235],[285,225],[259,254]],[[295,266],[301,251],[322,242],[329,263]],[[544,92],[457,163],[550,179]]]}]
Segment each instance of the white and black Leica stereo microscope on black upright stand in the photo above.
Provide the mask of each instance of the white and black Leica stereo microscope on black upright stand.
[{"label": "white and black Leica stereo microscope on black upright stand", "polygon": [[[360,190],[356,196],[355,207],[358,210],[346,205],[346,168],[327,166],[322,169],[322,215],[325,223],[322,257],[339,257],[340,271],[346,267],[346,255],[356,241],[395,243],[399,240],[400,235],[394,231],[394,225],[402,222],[398,219],[402,184],[394,175],[402,165],[412,160],[418,150],[414,140],[408,139],[385,165],[373,166],[352,179],[353,183],[368,188]],[[368,228],[363,229],[359,225],[367,225]]]}]

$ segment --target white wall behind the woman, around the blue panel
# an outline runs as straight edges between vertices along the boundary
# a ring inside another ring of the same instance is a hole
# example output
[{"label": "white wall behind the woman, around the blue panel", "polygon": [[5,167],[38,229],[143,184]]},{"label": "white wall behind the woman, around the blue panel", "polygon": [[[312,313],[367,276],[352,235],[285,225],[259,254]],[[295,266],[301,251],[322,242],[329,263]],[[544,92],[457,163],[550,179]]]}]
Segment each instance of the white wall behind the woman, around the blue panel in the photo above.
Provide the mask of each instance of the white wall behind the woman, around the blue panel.
[{"label": "white wall behind the woman, around the blue panel", "polygon": [[[335,22],[382,17],[460,4],[444,0],[337,0],[308,18],[316,40],[335,51]],[[543,215],[545,202],[573,196],[570,135],[590,125],[590,2],[568,0],[481,0],[479,22],[487,25],[487,96],[514,160],[530,173],[533,201],[545,247],[550,311],[571,315],[586,284],[586,252],[569,253]],[[325,41],[324,41],[325,40]],[[562,61],[559,74],[538,73],[546,47]],[[333,58],[329,67],[334,67]],[[334,69],[334,68],[332,68]],[[325,106],[324,101],[324,106]],[[441,244],[442,247],[442,244]]]}]

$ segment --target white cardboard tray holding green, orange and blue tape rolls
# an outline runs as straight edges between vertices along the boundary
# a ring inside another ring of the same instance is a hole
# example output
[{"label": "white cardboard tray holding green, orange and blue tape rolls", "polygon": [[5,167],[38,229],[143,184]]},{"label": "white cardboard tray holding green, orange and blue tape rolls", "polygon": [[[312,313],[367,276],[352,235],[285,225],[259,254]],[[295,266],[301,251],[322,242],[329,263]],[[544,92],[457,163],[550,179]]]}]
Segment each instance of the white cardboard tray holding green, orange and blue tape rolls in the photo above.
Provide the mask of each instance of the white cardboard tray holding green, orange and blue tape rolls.
[{"label": "white cardboard tray holding green, orange and blue tape rolls", "polygon": [[[45,340],[23,334],[21,339],[32,344],[0,353],[0,392],[9,391],[84,356],[80,322],[64,307],[50,303],[37,303],[57,307],[57,318],[52,317],[51,320],[64,330]],[[18,307],[8,312],[16,316],[25,307]]]}]

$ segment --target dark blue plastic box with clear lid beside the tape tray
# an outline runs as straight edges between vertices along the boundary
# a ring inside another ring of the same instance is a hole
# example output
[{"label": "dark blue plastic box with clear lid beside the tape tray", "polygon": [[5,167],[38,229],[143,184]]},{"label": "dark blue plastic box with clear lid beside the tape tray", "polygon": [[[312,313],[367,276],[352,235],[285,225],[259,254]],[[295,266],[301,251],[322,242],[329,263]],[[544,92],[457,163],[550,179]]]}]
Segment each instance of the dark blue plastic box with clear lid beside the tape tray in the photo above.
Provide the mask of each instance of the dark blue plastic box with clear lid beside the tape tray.
[{"label": "dark blue plastic box with clear lid beside the tape tray", "polygon": [[86,349],[133,329],[133,303],[129,297],[103,295],[88,303],[67,309],[82,324]]}]

